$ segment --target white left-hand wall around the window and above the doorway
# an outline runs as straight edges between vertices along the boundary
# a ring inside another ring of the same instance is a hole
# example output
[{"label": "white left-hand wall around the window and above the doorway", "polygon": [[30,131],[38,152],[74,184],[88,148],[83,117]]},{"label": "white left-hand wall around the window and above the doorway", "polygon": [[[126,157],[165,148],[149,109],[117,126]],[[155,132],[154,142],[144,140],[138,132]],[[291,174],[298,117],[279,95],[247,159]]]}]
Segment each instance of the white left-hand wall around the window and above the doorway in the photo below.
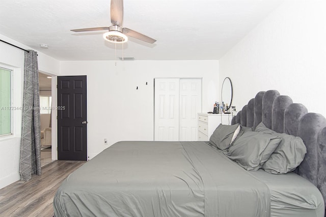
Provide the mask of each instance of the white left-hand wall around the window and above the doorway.
[{"label": "white left-hand wall around the window and above the doorway", "polygon": [[[10,38],[0,35],[0,39],[20,46],[24,49],[29,47],[16,42]],[[13,106],[22,106],[24,51],[11,45],[0,42],[0,65],[14,70]],[[59,61],[38,52],[38,65],[42,71],[59,73]],[[21,111],[14,111],[13,135],[0,137],[0,188],[5,187],[20,179],[20,133],[21,133]]]}]

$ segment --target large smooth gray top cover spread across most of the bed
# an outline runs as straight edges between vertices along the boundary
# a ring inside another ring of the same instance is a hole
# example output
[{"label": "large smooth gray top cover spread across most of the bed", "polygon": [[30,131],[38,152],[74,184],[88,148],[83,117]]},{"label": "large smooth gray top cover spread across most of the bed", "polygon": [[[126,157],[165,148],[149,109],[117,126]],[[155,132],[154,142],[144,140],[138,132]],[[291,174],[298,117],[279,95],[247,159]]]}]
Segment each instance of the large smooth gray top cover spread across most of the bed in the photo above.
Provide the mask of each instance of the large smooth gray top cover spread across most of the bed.
[{"label": "large smooth gray top cover spread across most of the bed", "polygon": [[118,142],[70,174],[55,216],[269,216],[266,184],[205,142]]}]

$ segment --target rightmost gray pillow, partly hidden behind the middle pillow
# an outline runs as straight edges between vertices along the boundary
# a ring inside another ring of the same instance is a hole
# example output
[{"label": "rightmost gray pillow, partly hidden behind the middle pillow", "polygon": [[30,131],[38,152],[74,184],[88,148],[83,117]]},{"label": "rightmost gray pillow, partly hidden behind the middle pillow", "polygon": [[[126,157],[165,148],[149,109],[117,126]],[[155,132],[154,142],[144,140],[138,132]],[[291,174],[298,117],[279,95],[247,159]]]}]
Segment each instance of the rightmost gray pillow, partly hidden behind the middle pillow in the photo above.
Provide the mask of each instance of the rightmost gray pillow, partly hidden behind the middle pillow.
[{"label": "rightmost gray pillow, partly hidden behind the middle pillow", "polygon": [[[278,133],[268,129],[263,123],[256,127],[256,131],[273,133],[282,138],[280,145],[270,155],[262,169],[271,174],[284,174],[295,170],[301,164],[307,153],[307,148],[300,137]],[[272,132],[273,131],[273,132]]]}]

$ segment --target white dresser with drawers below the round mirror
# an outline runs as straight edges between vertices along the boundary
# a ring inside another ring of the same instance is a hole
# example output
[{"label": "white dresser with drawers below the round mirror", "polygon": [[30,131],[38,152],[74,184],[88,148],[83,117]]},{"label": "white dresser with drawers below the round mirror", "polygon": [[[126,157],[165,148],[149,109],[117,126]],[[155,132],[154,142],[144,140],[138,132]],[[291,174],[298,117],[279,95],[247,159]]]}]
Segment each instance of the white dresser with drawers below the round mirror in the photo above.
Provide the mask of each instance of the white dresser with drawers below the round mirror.
[{"label": "white dresser with drawers below the round mirror", "polygon": [[209,141],[220,124],[231,125],[232,114],[198,113],[198,141]]}]

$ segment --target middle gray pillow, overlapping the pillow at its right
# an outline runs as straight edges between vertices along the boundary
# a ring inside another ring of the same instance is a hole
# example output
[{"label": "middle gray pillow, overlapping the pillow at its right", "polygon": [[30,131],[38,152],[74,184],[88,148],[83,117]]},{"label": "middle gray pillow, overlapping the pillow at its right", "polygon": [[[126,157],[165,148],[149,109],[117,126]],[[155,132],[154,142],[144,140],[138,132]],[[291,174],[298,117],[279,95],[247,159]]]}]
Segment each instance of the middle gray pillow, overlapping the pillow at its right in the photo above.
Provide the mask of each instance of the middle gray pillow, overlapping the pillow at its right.
[{"label": "middle gray pillow, overlapping the pillow at its right", "polygon": [[248,131],[234,141],[225,155],[244,169],[256,171],[263,166],[280,142],[281,138],[277,135]]}]

